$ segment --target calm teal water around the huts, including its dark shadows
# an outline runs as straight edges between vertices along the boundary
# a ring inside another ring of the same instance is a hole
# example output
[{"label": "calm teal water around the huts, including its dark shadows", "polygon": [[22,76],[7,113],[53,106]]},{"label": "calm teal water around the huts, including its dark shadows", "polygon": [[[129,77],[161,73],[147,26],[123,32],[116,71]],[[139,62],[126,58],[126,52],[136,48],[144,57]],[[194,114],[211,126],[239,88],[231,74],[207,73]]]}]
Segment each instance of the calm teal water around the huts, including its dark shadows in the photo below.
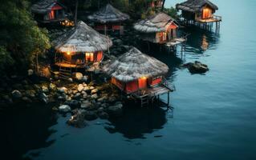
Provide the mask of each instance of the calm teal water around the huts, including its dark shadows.
[{"label": "calm teal water around the huts, including its dark shadows", "polygon": [[[167,6],[177,2],[167,0]],[[65,124],[68,116],[34,106],[1,120],[2,153],[32,159],[256,159],[256,1],[213,2],[223,18],[220,34],[185,30],[191,35],[184,61],[204,62],[208,73],[191,75],[177,68],[181,59],[155,55],[172,68],[173,112],[131,109],[122,119],[75,129]]]}]

